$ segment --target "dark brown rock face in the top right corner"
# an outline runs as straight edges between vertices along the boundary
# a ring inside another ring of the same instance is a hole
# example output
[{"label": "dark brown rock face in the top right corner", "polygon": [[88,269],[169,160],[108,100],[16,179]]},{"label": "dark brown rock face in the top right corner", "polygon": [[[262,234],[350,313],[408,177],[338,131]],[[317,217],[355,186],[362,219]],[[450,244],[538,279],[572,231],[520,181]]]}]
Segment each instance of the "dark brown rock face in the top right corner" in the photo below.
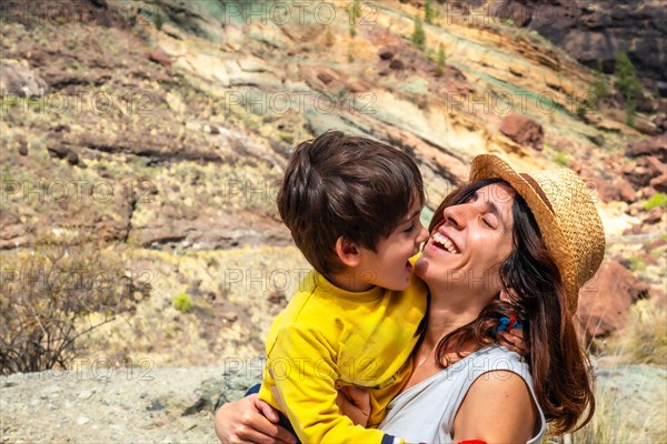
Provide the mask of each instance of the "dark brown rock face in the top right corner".
[{"label": "dark brown rock face in the top right corner", "polygon": [[498,19],[535,29],[580,63],[595,67],[601,62],[605,72],[614,71],[618,52],[627,53],[637,72],[667,97],[664,1],[505,0],[489,8]]}]

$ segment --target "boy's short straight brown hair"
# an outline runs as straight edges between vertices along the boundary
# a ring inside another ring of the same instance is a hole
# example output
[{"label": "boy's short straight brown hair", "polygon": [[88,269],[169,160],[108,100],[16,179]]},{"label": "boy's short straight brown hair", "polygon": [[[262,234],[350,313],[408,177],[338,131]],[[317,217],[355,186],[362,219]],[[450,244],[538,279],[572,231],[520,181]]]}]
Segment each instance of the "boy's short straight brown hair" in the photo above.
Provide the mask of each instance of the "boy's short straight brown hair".
[{"label": "boy's short straight brown hair", "polygon": [[328,131],[292,152],[278,211],[308,262],[325,276],[344,269],[336,241],[375,251],[417,200],[425,202],[415,161],[372,139]]}]

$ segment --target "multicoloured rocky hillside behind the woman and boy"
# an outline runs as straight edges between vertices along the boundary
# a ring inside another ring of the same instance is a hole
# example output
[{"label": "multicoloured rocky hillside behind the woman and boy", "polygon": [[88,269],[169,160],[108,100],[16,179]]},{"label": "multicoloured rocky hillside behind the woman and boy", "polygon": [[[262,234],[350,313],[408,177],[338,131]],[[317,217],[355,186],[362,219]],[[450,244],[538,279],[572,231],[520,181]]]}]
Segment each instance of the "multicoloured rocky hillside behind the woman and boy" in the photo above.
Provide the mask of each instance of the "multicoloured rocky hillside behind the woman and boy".
[{"label": "multicoloured rocky hillside behind the woman and boy", "polygon": [[[277,181],[296,143],[337,128],[412,154],[430,209],[479,153],[577,171],[608,235],[581,324],[608,336],[667,284],[665,8],[621,3],[540,21],[539,1],[3,2],[3,276],[27,280],[46,245],[103,241],[152,290],[78,341],[89,362],[261,355],[308,269]],[[618,51],[644,84],[631,127]]]}]

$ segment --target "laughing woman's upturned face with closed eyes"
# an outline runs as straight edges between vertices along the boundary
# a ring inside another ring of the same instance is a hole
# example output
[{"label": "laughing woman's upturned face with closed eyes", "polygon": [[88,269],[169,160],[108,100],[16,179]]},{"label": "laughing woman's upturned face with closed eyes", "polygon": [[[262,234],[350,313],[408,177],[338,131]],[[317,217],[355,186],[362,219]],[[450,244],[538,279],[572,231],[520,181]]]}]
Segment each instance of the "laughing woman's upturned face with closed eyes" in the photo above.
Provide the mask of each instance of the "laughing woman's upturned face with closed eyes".
[{"label": "laughing woman's upturned face with closed eyes", "polygon": [[416,263],[431,291],[500,292],[499,265],[512,249],[514,195],[511,188],[494,183],[445,209]]}]

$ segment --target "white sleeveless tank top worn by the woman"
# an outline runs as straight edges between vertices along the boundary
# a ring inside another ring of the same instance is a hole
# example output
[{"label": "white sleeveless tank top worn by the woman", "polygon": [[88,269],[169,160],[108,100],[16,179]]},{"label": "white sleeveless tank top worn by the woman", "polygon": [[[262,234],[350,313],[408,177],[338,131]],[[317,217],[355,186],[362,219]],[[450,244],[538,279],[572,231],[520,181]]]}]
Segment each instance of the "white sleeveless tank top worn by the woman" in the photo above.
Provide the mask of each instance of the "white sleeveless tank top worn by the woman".
[{"label": "white sleeveless tank top worn by the woman", "polygon": [[412,443],[451,443],[456,412],[472,383],[485,373],[505,370],[518,374],[530,390],[539,412],[536,434],[528,444],[539,443],[546,431],[545,415],[532,391],[532,377],[520,356],[499,345],[469,354],[431,377],[396,396],[380,424],[382,431]]}]

